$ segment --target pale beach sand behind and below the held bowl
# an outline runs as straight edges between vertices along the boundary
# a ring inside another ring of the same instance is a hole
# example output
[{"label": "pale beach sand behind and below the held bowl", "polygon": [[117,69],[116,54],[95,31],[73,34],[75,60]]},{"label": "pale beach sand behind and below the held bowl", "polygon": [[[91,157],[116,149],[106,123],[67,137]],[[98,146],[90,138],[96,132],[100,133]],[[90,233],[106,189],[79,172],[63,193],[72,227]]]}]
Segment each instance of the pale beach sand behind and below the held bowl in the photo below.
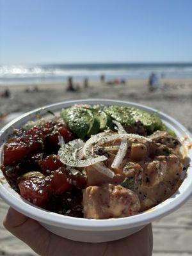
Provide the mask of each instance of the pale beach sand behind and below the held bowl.
[{"label": "pale beach sand behind and below the held bowl", "polygon": [[[66,92],[66,84],[34,84],[38,92],[26,93],[29,86],[9,86],[10,99],[0,98],[0,127],[20,113],[72,99],[120,99],[145,104],[173,116],[192,132],[192,79],[161,80],[162,90],[148,93],[146,80],[106,85],[90,82],[89,88]],[[81,86],[81,84],[80,84]],[[31,86],[33,87],[33,86]],[[0,87],[0,93],[3,86]],[[8,205],[0,200],[0,255],[35,255],[28,246],[2,226]],[[192,255],[192,200],[179,210],[153,223],[155,256]]]}]

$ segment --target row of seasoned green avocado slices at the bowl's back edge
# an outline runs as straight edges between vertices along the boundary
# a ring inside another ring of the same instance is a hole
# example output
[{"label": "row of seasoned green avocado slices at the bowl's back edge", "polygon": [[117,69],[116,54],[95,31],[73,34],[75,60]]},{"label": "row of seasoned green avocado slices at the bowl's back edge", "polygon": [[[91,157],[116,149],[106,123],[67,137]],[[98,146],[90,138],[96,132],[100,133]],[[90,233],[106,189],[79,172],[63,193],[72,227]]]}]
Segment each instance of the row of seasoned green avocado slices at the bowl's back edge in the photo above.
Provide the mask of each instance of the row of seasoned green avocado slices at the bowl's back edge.
[{"label": "row of seasoned green avocado slices at the bowl's back edge", "polygon": [[156,113],[150,114],[142,109],[124,106],[109,106],[100,108],[72,107],[63,109],[61,117],[78,138],[97,134],[105,129],[113,129],[112,120],[120,122],[125,128],[133,127],[138,121],[145,127],[148,134],[166,128]]}]

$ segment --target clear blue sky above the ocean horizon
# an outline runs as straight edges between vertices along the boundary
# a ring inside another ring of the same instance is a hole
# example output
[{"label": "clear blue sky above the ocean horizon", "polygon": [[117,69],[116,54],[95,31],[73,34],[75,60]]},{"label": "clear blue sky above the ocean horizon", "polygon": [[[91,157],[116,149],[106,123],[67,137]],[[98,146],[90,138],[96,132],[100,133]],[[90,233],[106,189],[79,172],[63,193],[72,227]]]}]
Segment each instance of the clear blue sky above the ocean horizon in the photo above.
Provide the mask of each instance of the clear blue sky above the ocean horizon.
[{"label": "clear blue sky above the ocean horizon", "polygon": [[0,64],[192,62],[192,0],[0,0]]}]

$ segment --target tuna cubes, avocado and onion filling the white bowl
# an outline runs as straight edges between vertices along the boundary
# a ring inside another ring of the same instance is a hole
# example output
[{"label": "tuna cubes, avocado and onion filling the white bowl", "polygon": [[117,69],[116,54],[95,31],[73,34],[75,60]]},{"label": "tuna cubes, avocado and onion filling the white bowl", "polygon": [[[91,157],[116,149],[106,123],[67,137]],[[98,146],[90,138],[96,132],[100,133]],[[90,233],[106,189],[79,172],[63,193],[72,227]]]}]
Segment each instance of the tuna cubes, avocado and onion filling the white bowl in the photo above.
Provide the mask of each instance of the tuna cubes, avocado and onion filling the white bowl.
[{"label": "tuna cubes, avocado and onion filling the white bowl", "polygon": [[15,129],[3,145],[4,177],[34,205],[59,214],[122,218],[179,188],[182,143],[156,114],[74,105]]}]

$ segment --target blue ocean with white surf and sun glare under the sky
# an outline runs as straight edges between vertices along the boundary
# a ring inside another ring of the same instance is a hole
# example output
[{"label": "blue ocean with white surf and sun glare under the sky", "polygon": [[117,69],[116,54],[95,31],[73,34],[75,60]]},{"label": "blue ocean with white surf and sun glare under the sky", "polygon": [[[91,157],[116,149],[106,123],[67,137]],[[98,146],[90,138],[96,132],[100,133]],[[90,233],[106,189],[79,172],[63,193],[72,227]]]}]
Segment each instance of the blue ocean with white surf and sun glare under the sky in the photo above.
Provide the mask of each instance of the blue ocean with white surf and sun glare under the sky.
[{"label": "blue ocean with white surf and sun glare under the sky", "polygon": [[191,78],[192,63],[97,63],[49,65],[0,65],[0,85],[56,83],[72,76],[74,81],[85,77],[99,80],[146,79],[154,72],[163,78]]}]

